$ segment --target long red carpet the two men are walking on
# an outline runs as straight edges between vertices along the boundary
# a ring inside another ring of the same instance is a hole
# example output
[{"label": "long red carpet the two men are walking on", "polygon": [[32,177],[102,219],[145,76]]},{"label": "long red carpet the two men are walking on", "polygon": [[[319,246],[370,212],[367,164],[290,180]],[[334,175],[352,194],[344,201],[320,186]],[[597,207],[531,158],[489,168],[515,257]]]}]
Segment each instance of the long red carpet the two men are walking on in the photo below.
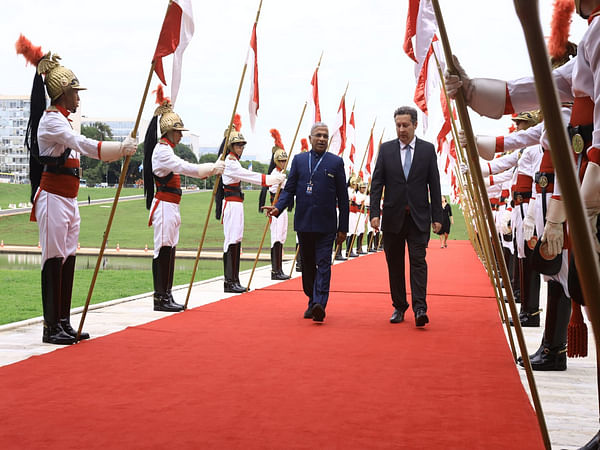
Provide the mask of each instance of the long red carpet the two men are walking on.
[{"label": "long red carpet the two men are walking on", "polygon": [[361,257],[322,325],[291,280],[0,368],[0,447],[542,449],[480,263],[434,244],[425,329]]}]

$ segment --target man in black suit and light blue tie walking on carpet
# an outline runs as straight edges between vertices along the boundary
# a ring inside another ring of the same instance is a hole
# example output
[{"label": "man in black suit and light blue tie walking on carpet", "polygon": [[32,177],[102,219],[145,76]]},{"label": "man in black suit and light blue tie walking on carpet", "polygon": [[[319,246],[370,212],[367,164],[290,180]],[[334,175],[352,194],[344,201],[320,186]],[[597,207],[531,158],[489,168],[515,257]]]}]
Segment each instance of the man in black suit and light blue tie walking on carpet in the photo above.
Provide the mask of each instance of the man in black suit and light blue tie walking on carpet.
[{"label": "man in black suit and light blue tie walking on carpet", "polygon": [[[383,248],[388,265],[394,313],[392,323],[404,320],[408,309],[404,278],[404,248],[408,244],[410,288],[415,323],[429,322],[427,317],[427,262],[429,225],[441,229],[442,204],[440,177],[435,148],[415,136],[417,111],[409,106],[394,112],[398,139],[385,142],[371,182],[371,225],[379,229],[380,200],[385,188],[382,230]],[[431,204],[430,204],[431,200]]]}]

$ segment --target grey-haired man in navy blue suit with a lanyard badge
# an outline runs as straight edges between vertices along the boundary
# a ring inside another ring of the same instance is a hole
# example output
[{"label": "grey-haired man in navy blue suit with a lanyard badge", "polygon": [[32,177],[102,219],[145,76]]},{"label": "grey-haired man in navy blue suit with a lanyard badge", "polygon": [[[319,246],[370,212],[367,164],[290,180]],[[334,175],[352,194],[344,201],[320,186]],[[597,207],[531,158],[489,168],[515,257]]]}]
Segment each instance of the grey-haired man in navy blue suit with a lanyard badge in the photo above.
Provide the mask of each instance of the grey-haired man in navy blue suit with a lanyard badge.
[{"label": "grey-haired man in navy blue suit with a lanyard badge", "polygon": [[[275,206],[265,206],[277,217],[296,197],[294,230],[302,256],[302,288],[308,297],[305,319],[322,322],[329,298],[331,249],[348,232],[348,191],[344,161],[327,152],[329,130],[317,122],[310,131],[312,150],[296,155],[285,188]],[[339,208],[339,222],[336,214]]]}]

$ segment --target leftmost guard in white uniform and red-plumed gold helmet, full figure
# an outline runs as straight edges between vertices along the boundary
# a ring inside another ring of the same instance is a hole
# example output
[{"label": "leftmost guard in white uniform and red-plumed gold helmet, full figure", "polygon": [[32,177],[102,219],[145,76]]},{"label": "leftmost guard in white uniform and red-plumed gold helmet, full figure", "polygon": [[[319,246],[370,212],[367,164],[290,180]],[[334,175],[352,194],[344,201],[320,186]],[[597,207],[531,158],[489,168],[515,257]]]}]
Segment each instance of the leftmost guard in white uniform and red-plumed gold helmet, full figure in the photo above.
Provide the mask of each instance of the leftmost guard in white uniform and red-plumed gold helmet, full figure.
[{"label": "leftmost guard in white uniform and red-plumed gold helmet, full figure", "polygon": [[[70,69],[60,65],[58,55],[44,55],[40,47],[34,47],[22,35],[16,48],[37,66],[25,143],[31,154],[30,219],[38,223],[42,247],[42,341],[68,345],[77,336],[69,316],[81,221],[77,206],[80,155],[116,161],[133,155],[136,142],[131,137],[108,142],[75,134],[69,114],[77,110],[79,91],[85,88]],[[46,92],[50,97],[48,108]],[[80,339],[89,337],[88,333],[80,335]]]}]

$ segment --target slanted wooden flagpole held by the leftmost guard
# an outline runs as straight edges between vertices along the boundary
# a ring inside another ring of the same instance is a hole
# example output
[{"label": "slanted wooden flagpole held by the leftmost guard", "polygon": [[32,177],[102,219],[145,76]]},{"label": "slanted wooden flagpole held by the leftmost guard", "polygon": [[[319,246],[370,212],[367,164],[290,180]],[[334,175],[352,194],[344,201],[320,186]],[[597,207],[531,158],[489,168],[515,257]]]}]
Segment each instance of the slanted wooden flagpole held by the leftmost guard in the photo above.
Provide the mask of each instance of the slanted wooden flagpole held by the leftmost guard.
[{"label": "slanted wooden flagpole held by the leftmost guard", "polygon": [[[167,11],[165,13],[165,17],[169,13],[170,7],[171,7],[171,2],[169,2],[169,5],[167,6]],[[142,119],[144,105],[146,104],[146,98],[148,97],[148,90],[150,89],[150,83],[152,82],[152,74],[154,72],[155,65],[156,65],[155,61],[152,61],[152,64],[150,64],[150,72],[148,73],[148,79],[146,80],[146,87],[144,89],[144,94],[142,95],[142,101],[140,102],[140,108],[138,110],[138,115],[137,115],[137,118],[135,119],[135,125],[133,126],[133,130],[131,130],[131,137],[133,139],[136,138],[137,131],[140,126],[140,121]],[[90,301],[92,299],[94,287],[96,286],[96,278],[98,276],[98,271],[100,270],[100,264],[102,263],[102,257],[104,256],[104,250],[106,249],[106,242],[108,241],[108,235],[109,235],[110,229],[112,227],[112,221],[115,217],[115,212],[117,210],[117,204],[119,203],[119,197],[121,195],[121,189],[123,188],[123,183],[125,182],[125,177],[127,176],[127,169],[129,169],[130,161],[131,161],[131,156],[127,155],[127,157],[125,157],[125,161],[123,162],[123,166],[121,167],[121,175],[119,177],[119,185],[117,186],[117,192],[115,193],[115,198],[113,200],[110,214],[108,216],[108,222],[106,224],[106,229],[104,230],[104,235],[102,237],[102,244],[100,245],[100,251],[98,252],[98,258],[96,260],[96,267],[94,269],[94,274],[92,275],[92,281],[90,282],[90,287],[88,289],[88,295],[87,295],[87,298],[85,299],[85,305],[83,306],[83,311],[81,313],[81,320],[79,321],[79,328],[77,329],[77,336],[75,337],[75,342],[79,342],[79,338],[81,337],[81,332],[83,330],[83,324],[85,322],[85,318],[87,316],[87,311],[90,306]]]}]

